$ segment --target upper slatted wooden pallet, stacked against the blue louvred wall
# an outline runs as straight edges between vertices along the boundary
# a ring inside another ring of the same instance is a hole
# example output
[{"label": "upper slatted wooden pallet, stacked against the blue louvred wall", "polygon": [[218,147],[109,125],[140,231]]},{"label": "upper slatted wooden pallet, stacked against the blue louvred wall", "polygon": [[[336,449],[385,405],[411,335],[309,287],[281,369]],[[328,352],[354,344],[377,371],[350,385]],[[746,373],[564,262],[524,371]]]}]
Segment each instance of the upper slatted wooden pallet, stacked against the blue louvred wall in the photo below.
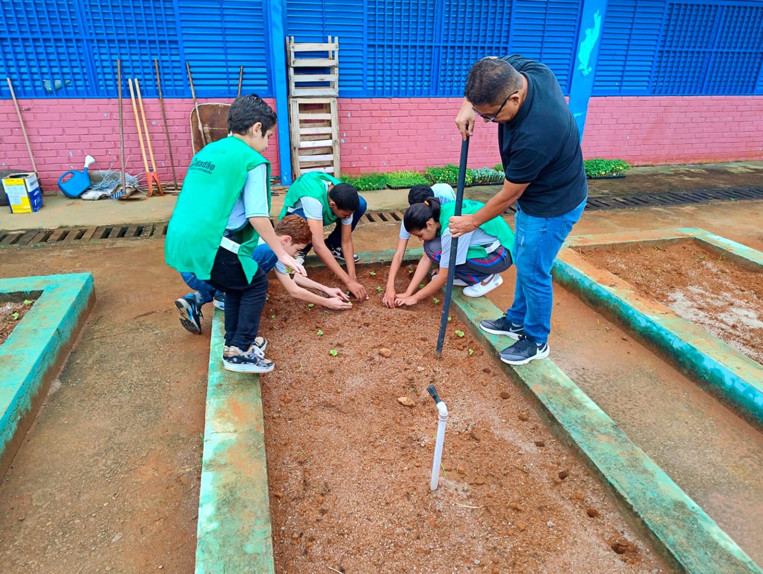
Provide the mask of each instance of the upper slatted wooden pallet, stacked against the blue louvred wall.
[{"label": "upper slatted wooden pallet, stacked against the blue louvred wall", "polygon": [[292,98],[339,95],[339,38],[328,42],[286,39],[289,95]]}]

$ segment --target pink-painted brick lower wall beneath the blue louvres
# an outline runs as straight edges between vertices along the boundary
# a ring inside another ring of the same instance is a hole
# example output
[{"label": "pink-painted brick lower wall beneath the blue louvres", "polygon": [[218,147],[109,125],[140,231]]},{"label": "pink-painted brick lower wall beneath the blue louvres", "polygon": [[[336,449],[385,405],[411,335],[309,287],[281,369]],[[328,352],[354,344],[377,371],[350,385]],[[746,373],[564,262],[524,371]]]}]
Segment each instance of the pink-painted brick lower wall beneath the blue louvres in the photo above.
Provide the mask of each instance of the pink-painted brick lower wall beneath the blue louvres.
[{"label": "pink-painted brick lower wall beneath the blue louvres", "polygon": [[[55,182],[63,172],[81,169],[87,153],[95,156],[100,168],[108,168],[111,160],[118,159],[115,100],[20,103],[47,191],[56,189]],[[165,104],[175,166],[182,178],[191,159],[188,115],[193,103],[168,99]],[[171,181],[158,102],[147,99],[144,105],[159,177]],[[459,106],[459,98],[340,99],[343,172],[420,170],[457,163],[460,138],[452,120]],[[124,102],[124,122],[127,168],[143,172],[128,100]],[[0,101],[0,127],[0,167],[31,168],[11,101]],[[478,123],[469,147],[471,167],[500,161],[495,134],[494,126]],[[617,157],[636,165],[763,160],[763,97],[591,98],[583,151],[587,158]],[[275,136],[266,156],[277,174]]]}]

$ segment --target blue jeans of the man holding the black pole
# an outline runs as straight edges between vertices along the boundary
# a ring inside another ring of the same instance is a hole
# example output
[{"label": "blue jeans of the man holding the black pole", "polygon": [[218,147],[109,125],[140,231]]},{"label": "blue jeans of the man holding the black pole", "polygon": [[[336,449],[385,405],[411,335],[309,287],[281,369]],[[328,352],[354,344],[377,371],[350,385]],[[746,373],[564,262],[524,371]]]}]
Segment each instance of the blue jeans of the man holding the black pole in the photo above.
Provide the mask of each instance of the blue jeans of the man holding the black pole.
[{"label": "blue jeans of the man holding the black pole", "polygon": [[517,267],[514,302],[506,319],[521,325],[538,345],[549,338],[553,290],[551,267],[572,226],[578,223],[586,200],[558,217],[533,217],[517,205],[513,259]]}]

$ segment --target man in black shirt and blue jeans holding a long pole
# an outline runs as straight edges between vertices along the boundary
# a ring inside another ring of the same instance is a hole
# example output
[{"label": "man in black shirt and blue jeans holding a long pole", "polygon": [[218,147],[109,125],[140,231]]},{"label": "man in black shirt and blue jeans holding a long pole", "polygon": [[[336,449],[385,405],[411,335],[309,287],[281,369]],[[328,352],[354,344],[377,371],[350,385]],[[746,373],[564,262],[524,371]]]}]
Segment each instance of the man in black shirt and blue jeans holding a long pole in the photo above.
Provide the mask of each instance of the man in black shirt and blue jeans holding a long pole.
[{"label": "man in black shirt and blue jeans holding a long pole", "polygon": [[464,95],[456,125],[466,138],[477,115],[498,124],[506,181],[477,213],[452,217],[450,229],[454,237],[468,233],[517,202],[514,301],[506,316],[480,327],[517,339],[501,361],[526,364],[549,356],[551,267],[588,197],[580,134],[554,73],[535,60],[481,59]]}]

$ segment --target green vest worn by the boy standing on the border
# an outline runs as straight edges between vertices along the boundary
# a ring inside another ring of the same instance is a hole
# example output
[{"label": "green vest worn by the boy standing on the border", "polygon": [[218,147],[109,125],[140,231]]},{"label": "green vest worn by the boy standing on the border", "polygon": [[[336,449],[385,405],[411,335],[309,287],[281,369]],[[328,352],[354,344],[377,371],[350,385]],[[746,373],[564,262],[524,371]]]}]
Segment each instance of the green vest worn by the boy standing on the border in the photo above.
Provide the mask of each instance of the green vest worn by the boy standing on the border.
[{"label": "green vest worn by the boy standing on the border", "polygon": [[[167,226],[164,261],[178,271],[209,279],[228,217],[240,197],[246,176],[257,165],[267,165],[270,207],[270,162],[235,136],[204,146],[191,160],[182,191]],[[237,232],[241,267],[247,281],[257,272],[252,252],[259,236],[247,224]]]}]

